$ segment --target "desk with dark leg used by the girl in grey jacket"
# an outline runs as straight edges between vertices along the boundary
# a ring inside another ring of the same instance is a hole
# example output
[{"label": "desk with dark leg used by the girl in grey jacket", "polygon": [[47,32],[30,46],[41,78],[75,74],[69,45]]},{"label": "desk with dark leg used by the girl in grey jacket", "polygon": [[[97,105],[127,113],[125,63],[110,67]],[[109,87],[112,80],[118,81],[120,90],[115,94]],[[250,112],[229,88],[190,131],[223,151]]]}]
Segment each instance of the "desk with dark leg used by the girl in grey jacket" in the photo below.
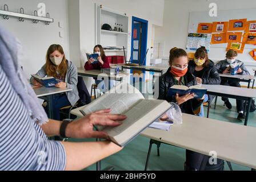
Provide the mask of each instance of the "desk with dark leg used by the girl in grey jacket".
[{"label": "desk with dark leg used by the girl in grey jacket", "polygon": [[46,88],[45,86],[39,87],[39,88],[34,88],[34,92],[37,95],[38,98],[41,98],[42,100],[47,101],[47,109],[48,109],[48,115],[50,119],[53,119],[53,96],[54,94],[58,93],[64,93],[64,92],[69,92],[72,89],[67,89],[67,88]]}]

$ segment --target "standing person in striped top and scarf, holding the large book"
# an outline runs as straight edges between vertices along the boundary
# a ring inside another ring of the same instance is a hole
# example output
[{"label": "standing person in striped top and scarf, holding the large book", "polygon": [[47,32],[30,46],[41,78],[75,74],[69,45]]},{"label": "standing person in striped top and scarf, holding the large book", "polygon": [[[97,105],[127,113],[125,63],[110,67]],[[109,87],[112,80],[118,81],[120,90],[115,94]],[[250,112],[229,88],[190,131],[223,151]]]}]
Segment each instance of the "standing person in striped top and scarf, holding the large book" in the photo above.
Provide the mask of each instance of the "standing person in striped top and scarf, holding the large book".
[{"label": "standing person in striped top and scarf, holding the large book", "polygon": [[[49,120],[19,68],[19,43],[0,26],[0,171],[82,170],[120,151],[105,142],[57,142],[47,136],[107,138],[93,125],[118,126],[122,115],[102,110],[67,123]],[[63,124],[64,123],[64,124]]]}]

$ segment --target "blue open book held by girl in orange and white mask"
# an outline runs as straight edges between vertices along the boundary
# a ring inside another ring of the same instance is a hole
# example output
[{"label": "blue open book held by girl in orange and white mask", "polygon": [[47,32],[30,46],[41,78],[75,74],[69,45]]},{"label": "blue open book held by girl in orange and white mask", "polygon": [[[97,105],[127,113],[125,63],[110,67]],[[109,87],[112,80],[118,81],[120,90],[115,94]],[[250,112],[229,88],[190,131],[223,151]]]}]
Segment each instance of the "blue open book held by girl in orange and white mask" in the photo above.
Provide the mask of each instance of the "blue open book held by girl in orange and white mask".
[{"label": "blue open book held by girl in orange and white mask", "polygon": [[168,90],[168,96],[169,97],[175,97],[176,94],[178,93],[179,96],[184,96],[189,93],[194,93],[195,97],[194,98],[202,98],[206,92],[207,89],[202,88],[202,85],[194,85],[194,86],[184,86],[184,85],[174,85]]}]

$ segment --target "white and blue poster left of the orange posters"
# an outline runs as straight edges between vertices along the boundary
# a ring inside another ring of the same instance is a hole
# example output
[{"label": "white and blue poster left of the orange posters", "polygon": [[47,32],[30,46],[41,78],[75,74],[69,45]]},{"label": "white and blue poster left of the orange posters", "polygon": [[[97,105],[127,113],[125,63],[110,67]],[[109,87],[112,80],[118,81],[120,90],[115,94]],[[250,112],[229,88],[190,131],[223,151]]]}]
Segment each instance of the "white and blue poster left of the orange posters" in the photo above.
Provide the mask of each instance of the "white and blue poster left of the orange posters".
[{"label": "white and blue poster left of the orange posters", "polygon": [[207,52],[210,52],[211,34],[189,34],[187,36],[187,50],[195,51],[201,46],[206,47]]}]

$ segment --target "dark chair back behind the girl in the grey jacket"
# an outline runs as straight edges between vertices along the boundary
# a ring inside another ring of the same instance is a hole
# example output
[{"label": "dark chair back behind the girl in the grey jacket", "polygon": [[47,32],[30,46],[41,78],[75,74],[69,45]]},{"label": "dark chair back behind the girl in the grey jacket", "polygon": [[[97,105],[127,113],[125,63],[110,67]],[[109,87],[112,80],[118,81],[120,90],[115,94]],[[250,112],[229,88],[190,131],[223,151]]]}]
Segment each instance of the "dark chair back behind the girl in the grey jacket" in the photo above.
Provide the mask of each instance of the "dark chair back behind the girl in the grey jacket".
[{"label": "dark chair back behind the girl in the grey jacket", "polygon": [[84,106],[91,103],[91,96],[87,90],[83,77],[78,76],[77,89],[79,94],[79,106]]}]

